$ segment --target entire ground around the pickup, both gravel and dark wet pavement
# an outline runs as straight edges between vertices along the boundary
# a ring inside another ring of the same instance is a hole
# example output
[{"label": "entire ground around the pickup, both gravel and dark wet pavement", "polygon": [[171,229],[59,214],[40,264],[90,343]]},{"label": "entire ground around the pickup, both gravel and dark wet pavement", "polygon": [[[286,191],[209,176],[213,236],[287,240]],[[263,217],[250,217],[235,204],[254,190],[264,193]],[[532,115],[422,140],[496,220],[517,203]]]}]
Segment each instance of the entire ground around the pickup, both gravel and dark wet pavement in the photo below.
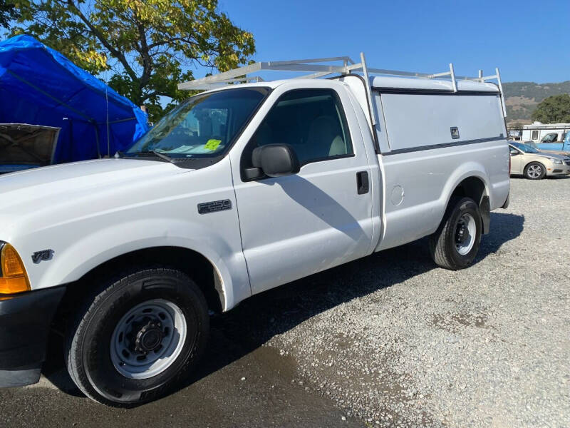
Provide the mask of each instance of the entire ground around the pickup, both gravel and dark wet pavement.
[{"label": "entire ground around the pickup, both gravel and dark wet pavement", "polygon": [[54,347],[40,384],[0,391],[0,425],[569,427],[570,178],[513,179],[511,201],[468,270],[419,241],[215,317],[159,402],[90,402]]}]

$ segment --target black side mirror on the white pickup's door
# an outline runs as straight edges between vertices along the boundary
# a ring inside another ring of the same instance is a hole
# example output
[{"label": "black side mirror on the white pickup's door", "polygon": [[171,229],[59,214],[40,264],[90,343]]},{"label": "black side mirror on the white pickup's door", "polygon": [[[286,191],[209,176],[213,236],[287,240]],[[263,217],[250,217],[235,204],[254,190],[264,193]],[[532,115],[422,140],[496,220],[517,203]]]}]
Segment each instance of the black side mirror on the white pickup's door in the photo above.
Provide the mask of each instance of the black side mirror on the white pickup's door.
[{"label": "black side mirror on the white pickup's door", "polygon": [[299,172],[299,159],[289,144],[267,144],[255,148],[252,165],[269,177],[281,177]]}]

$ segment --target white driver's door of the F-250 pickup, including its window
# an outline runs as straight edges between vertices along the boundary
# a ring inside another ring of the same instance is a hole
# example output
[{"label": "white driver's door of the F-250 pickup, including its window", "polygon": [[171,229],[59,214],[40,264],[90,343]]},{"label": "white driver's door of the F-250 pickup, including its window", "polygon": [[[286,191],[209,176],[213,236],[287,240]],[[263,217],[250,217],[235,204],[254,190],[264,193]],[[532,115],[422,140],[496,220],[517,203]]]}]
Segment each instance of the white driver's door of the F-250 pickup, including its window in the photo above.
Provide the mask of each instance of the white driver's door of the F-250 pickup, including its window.
[{"label": "white driver's door of the F-250 pickup, including its window", "polygon": [[[301,170],[244,178],[254,148],[289,144]],[[235,153],[234,153],[235,152]],[[276,100],[242,151],[232,151],[242,247],[252,292],[360,258],[371,247],[370,169],[346,93],[296,89]]]}]

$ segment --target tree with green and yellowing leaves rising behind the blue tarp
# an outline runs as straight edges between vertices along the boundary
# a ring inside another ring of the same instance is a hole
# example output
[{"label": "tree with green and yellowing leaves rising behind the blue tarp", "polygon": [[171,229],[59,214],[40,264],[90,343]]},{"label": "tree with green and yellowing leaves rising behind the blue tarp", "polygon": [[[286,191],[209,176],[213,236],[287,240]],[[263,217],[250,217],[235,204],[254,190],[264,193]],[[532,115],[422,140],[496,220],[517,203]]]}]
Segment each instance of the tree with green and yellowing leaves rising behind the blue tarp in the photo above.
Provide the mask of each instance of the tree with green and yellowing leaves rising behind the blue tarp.
[{"label": "tree with green and yellowing leaves rising behind the blue tarp", "polygon": [[[187,98],[177,83],[204,66],[226,71],[255,51],[253,35],[235,26],[217,0],[19,0],[19,24],[92,73],[105,72],[111,87],[151,121],[164,113],[160,96]],[[110,77],[109,77],[110,74]]]}]

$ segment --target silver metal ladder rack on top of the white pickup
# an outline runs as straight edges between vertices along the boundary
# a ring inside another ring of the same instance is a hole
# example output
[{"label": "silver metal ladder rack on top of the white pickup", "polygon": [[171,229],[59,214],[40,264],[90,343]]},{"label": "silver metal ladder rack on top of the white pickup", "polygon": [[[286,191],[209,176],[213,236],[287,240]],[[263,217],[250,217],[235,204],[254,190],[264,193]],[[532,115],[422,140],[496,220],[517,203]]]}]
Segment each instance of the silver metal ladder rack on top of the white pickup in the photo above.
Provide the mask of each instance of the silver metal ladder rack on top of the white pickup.
[{"label": "silver metal ladder rack on top of the white pickup", "polygon": [[[342,65],[330,65],[325,63],[342,61]],[[366,81],[367,96],[371,97],[371,87],[369,75],[383,75],[383,76],[404,76],[410,78],[449,78],[452,83],[453,92],[457,92],[457,81],[477,81],[485,82],[497,79],[499,92],[501,95],[503,116],[507,116],[507,110],[504,104],[503,88],[501,83],[501,75],[499,68],[495,68],[495,74],[492,76],[483,76],[482,70],[479,71],[477,77],[470,76],[455,76],[453,63],[450,63],[449,71],[442,73],[417,73],[414,71],[398,71],[386,70],[383,68],[368,68],[364,54],[361,53],[361,62],[355,63],[348,56],[335,56],[332,58],[312,58],[312,59],[296,59],[291,61],[267,61],[249,64],[234,68],[233,70],[224,71],[222,73],[214,74],[203,78],[197,78],[193,81],[187,81],[178,84],[178,89],[199,91],[210,90],[215,88],[224,87],[227,84],[247,83],[251,81],[260,82],[264,81],[260,76],[248,76],[252,73],[259,73],[259,71],[301,71],[310,74],[296,76],[294,78],[319,78],[328,76],[330,74],[346,75],[350,73],[363,73]]]}]

